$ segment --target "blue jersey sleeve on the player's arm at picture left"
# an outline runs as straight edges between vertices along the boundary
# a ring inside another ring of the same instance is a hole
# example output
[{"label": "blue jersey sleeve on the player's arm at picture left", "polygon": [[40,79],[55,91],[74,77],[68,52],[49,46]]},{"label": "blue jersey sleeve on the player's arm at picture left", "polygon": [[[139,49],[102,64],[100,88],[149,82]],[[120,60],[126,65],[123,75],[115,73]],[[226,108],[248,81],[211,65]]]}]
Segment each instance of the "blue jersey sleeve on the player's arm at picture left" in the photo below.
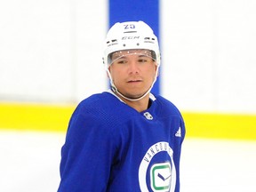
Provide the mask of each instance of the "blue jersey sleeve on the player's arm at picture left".
[{"label": "blue jersey sleeve on the player's arm at picture left", "polygon": [[108,126],[99,116],[74,113],[61,148],[58,192],[107,190],[116,153],[114,133]]}]

